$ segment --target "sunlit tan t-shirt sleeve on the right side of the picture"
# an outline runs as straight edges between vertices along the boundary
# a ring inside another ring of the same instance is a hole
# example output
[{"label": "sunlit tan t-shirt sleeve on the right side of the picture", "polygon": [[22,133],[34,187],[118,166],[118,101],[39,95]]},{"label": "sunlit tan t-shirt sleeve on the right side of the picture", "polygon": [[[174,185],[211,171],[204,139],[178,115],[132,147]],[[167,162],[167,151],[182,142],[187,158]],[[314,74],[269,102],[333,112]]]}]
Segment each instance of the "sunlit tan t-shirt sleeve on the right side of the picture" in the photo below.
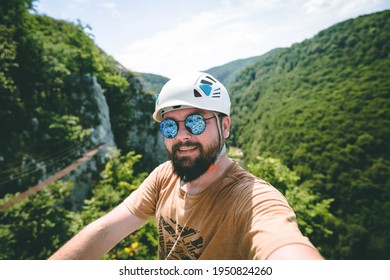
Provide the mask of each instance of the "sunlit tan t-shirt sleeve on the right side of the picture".
[{"label": "sunlit tan t-shirt sleeve on the right side of the picture", "polygon": [[[250,192],[250,194],[249,194]],[[241,250],[248,259],[266,259],[276,249],[289,244],[305,244],[315,249],[298,228],[293,209],[273,186],[255,183],[243,197]]]}]

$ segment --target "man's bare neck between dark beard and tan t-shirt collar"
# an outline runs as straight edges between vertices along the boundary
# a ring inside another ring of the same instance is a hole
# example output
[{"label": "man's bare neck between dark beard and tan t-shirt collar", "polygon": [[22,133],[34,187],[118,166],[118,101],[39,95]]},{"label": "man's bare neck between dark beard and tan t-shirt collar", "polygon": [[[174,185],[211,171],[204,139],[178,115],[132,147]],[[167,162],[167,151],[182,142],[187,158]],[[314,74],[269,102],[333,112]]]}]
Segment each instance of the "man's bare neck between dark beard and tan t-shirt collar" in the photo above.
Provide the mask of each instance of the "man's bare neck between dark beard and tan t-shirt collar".
[{"label": "man's bare neck between dark beard and tan t-shirt collar", "polygon": [[198,179],[185,183],[182,186],[182,189],[188,194],[201,193],[213,185],[222,176],[230,164],[232,164],[232,162],[233,161],[226,154],[224,154],[213,168],[200,176]]}]

